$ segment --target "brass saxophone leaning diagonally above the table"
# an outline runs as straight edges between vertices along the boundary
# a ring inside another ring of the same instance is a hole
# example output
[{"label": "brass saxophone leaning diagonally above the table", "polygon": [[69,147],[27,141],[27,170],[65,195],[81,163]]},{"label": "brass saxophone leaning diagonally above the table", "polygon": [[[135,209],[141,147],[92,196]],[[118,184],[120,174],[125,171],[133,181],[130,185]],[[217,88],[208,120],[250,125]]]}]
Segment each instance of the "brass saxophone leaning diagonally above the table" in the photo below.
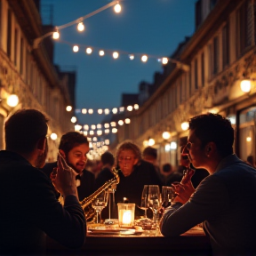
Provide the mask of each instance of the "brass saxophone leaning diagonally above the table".
[{"label": "brass saxophone leaning diagonally above the table", "polygon": [[92,193],[91,196],[87,196],[85,197],[81,202],[81,206],[84,210],[84,214],[85,214],[85,218],[86,220],[91,220],[92,217],[94,216],[94,209],[92,208],[92,200],[95,199],[98,195],[100,195],[100,193],[108,188],[110,188],[113,185],[117,185],[119,183],[119,175],[118,175],[118,171],[114,168],[112,170],[112,172],[114,173],[114,178],[111,180],[108,180],[104,183],[104,185],[102,185],[100,188],[98,188],[95,192]]}]

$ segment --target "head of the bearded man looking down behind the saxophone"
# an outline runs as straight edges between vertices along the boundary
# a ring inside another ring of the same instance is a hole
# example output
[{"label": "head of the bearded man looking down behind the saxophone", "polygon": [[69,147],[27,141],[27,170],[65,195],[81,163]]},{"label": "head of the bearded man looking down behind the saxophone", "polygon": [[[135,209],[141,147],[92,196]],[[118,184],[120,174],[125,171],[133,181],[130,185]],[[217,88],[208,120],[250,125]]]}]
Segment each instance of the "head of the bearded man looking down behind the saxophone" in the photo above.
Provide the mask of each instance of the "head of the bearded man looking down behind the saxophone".
[{"label": "head of the bearded man looking down behind the saxophone", "polygon": [[77,173],[84,170],[87,153],[89,152],[89,142],[87,138],[79,132],[67,132],[60,139],[60,153],[65,157],[68,165]]}]

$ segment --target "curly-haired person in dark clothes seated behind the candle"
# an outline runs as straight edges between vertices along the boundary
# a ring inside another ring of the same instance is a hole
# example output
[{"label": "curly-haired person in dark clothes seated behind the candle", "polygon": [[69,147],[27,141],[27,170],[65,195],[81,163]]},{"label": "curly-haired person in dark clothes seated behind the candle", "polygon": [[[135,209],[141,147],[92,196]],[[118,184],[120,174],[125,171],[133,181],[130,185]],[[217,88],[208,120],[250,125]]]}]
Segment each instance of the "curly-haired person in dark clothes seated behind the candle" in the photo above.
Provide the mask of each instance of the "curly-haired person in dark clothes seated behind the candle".
[{"label": "curly-haired person in dark clothes seated behind the candle", "polygon": [[[119,169],[120,182],[116,185],[115,203],[128,201],[140,207],[144,185],[161,186],[161,181],[157,177],[154,165],[142,160],[140,148],[130,141],[124,141],[117,148],[116,160],[116,169]],[[114,174],[112,177],[114,177]],[[104,181],[109,180],[107,175],[105,178],[102,175],[101,178]],[[135,215],[143,214],[143,210],[135,209]],[[117,218],[117,212],[112,212],[111,216],[113,216],[112,218]]]}]

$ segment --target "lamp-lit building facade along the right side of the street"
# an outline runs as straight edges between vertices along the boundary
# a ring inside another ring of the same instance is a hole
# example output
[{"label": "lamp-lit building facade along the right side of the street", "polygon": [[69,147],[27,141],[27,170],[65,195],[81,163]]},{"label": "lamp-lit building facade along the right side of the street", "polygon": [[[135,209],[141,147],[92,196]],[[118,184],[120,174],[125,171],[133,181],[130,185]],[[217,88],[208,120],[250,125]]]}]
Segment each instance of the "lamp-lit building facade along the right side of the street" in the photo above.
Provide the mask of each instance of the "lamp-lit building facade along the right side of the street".
[{"label": "lamp-lit building facade along the right side of the street", "polygon": [[[163,81],[130,115],[131,124],[119,128],[117,140],[133,140],[143,149],[149,138],[154,139],[159,164],[177,166],[179,143],[188,136],[181,124],[214,112],[232,121],[237,156],[255,156],[255,9],[253,0],[197,1],[196,32],[175,55],[179,65],[167,64]],[[189,68],[182,68],[182,63]],[[251,83],[249,92],[241,90],[244,79]],[[164,140],[163,132],[171,137]],[[166,147],[171,142],[172,147]]]}]

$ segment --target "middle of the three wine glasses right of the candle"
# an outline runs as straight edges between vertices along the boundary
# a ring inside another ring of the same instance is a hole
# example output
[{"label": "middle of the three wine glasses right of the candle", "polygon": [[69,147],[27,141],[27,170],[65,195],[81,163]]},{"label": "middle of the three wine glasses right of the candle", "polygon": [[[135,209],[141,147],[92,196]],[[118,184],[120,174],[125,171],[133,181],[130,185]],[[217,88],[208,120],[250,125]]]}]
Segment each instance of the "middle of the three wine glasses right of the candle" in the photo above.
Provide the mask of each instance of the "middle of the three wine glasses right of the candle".
[{"label": "middle of the three wine glasses right of the candle", "polygon": [[153,211],[153,220],[156,223],[157,211],[161,208],[161,194],[158,185],[148,185],[148,206]]}]

